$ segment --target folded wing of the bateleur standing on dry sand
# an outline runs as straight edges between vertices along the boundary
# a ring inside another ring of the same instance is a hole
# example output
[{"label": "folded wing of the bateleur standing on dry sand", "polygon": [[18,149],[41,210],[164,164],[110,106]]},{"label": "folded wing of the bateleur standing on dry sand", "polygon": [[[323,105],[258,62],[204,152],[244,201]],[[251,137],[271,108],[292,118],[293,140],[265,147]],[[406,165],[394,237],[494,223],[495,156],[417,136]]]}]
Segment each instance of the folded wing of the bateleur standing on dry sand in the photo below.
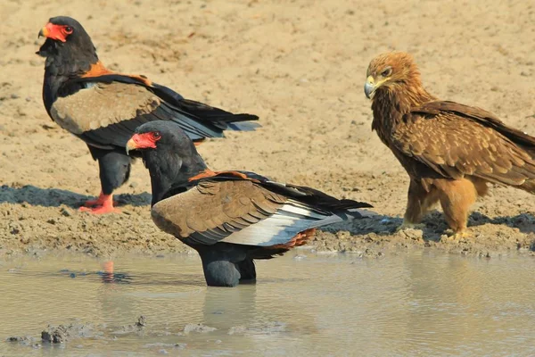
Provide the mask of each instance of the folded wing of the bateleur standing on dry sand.
[{"label": "folded wing of the bateleur standing on dry sand", "polygon": [[184,99],[168,87],[124,75],[76,79],[81,89],[58,97],[50,115],[63,129],[102,148],[124,147],[147,121],[173,120],[193,140],[223,137],[226,129],[250,130],[258,120]]}]

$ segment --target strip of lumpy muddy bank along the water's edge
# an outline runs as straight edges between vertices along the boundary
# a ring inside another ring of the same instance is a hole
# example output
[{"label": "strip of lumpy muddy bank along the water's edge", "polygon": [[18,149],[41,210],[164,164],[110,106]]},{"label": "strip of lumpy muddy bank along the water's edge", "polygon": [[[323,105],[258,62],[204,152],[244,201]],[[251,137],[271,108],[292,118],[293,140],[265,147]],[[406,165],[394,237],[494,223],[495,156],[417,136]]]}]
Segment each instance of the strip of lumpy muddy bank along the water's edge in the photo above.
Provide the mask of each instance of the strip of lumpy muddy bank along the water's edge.
[{"label": "strip of lumpy muddy bank along the water's edge", "polygon": [[[149,194],[119,195],[118,201],[122,203],[120,213],[95,216],[78,212],[78,204],[86,199],[84,195],[45,190],[45,194],[34,196],[36,191],[40,189],[1,188],[0,197],[14,198],[10,198],[12,203],[0,204],[0,214],[4,217],[0,223],[4,226],[0,232],[0,257],[62,252],[100,257],[127,253],[194,253],[174,237],[154,227],[149,213]],[[31,197],[40,197],[38,200],[41,201],[37,202],[37,198]],[[61,203],[69,197],[71,206]],[[50,207],[44,210],[39,204]],[[374,204],[381,207],[388,202]],[[397,205],[402,211],[402,203]],[[469,220],[473,237],[463,239],[449,237],[450,232],[441,212],[430,213],[424,220],[423,229],[398,232],[396,228],[401,222],[399,216],[379,214],[364,220],[336,224],[317,231],[305,248],[317,252],[357,253],[365,257],[423,248],[486,257],[533,254],[535,250],[535,217],[520,212],[520,209],[514,215],[494,217],[473,212]]]}]

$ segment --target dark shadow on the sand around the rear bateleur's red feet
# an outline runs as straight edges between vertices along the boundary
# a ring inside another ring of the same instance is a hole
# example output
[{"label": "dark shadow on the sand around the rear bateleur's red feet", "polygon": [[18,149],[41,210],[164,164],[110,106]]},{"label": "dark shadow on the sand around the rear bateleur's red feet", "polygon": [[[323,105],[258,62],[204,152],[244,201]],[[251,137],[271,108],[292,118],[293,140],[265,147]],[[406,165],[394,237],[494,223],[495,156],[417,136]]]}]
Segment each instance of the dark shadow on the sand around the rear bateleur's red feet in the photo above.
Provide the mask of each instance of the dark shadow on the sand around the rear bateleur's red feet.
[{"label": "dark shadow on the sand around the rear bateleur's red feet", "polygon": [[[113,198],[117,201],[119,206],[125,204],[145,206],[151,204],[151,197],[151,194],[144,192],[136,195],[115,195]],[[95,197],[80,195],[76,192],[59,188],[41,188],[32,185],[23,187],[3,185],[0,187],[0,203],[28,203],[30,205],[42,207],[59,207],[61,205],[66,205],[68,207],[78,208],[92,198]]]}]

